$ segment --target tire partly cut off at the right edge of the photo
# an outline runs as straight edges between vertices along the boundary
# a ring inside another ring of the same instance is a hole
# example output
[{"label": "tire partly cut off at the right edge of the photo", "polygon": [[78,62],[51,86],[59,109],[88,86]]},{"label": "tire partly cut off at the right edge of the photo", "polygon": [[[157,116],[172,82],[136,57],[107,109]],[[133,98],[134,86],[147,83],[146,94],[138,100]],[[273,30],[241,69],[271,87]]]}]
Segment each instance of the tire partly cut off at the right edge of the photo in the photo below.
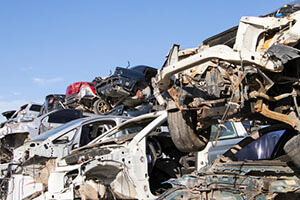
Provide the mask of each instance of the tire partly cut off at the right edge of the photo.
[{"label": "tire partly cut off at the right edge of the photo", "polygon": [[283,147],[285,153],[290,157],[296,167],[300,167],[300,135],[292,137]]}]

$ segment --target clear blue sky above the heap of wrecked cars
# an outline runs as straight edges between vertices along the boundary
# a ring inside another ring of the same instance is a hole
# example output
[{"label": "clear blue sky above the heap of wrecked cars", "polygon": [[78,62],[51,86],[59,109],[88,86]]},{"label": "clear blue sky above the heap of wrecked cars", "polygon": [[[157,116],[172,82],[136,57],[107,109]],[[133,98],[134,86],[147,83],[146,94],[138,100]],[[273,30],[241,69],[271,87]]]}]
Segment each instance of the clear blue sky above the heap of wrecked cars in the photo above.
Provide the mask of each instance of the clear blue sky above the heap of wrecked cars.
[{"label": "clear blue sky above the heap of wrecked cars", "polygon": [[160,68],[172,44],[196,47],[241,16],[290,2],[0,0],[0,112],[42,103],[128,61]]}]

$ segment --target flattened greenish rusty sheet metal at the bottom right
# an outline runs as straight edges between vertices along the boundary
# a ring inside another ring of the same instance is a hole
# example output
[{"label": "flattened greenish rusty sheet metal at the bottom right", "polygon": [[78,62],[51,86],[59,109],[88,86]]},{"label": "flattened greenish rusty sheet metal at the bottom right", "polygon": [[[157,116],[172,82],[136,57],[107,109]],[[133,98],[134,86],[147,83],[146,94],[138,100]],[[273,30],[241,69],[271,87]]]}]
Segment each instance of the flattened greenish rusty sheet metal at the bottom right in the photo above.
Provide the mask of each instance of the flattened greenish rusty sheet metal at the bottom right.
[{"label": "flattened greenish rusty sheet metal at the bottom right", "polygon": [[180,179],[171,179],[167,183],[172,184],[173,188],[160,199],[261,200],[287,193],[300,196],[297,193],[300,180],[296,176],[187,175]]}]

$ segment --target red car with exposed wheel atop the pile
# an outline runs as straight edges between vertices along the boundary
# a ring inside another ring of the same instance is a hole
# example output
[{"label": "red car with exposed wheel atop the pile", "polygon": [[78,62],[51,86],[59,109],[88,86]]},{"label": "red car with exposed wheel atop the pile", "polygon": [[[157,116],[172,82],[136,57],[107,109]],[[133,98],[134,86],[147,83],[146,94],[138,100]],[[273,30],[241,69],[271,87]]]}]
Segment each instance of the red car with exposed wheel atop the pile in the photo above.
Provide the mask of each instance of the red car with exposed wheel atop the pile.
[{"label": "red car with exposed wheel atop the pile", "polygon": [[94,82],[76,82],[69,85],[65,105],[96,114],[104,114],[110,109],[109,105],[95,94]]}]

